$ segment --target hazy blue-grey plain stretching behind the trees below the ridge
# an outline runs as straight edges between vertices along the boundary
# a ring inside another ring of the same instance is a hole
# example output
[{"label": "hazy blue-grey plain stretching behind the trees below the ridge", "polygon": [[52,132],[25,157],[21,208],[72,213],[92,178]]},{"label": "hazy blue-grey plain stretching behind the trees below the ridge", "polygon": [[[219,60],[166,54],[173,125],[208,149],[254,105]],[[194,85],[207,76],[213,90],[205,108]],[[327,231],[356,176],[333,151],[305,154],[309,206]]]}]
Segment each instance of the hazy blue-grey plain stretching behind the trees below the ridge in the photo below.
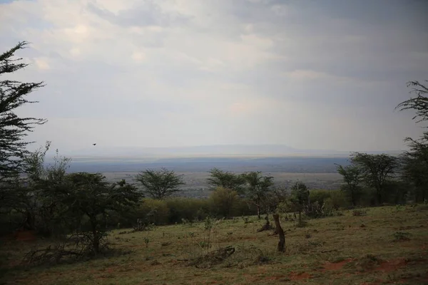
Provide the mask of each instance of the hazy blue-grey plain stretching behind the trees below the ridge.
[{"label": "hazy blue-grey plain stretching behind the trees below the ridge", "polygon": [[300,180],[311,189],[337,189],[340,175],[335,164],[348,163],[345,156],[76,157],[69,171],[101,172],[109,181],[125,179],[132,182],[140,171],[166,167],[183,175],[186,185],[180,196],[208,197],[207,178],[213,167],[235,173],[261,171],[275,177],[275,185],[282,187]]}]

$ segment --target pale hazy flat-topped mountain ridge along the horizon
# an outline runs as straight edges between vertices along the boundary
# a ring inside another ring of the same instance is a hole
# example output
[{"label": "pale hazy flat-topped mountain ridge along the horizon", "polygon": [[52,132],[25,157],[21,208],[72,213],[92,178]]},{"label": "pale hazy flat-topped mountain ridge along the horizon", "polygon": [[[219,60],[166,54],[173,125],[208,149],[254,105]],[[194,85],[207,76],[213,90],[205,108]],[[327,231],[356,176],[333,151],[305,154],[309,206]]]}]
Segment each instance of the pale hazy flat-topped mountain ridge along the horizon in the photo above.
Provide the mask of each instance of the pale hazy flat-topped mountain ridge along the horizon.
[{"label": "pale hazy flat-topped mountain ridge along the horizon", "polygon": [[[372,151],[367,153],[398,154],[402,151]],[[288,145],[200,145],[189,147],[104,147],[95,145],[64,153],[66,156],[89,157],[174,157],[174,156],[285,156],[285,155],[350,155],[350,151],[302,150]]]}]

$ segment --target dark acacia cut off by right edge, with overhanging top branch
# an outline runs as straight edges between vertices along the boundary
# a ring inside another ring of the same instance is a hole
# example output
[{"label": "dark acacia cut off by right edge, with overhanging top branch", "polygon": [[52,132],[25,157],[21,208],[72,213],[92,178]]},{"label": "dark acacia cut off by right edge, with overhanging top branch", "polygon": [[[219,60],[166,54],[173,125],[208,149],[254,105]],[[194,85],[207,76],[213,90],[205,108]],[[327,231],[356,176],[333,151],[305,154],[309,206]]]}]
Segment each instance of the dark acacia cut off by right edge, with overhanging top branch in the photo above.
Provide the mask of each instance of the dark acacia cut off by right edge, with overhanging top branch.
[{"label": "dark acacia cut off by right edge, with overhanging top branch", "polygon": [[[399,103],[396,109],[414,110],[416,114],[412,120],[416,120],[416,123],[427,121],[428,87],[418,81],[409,81],[407,87],[411,88],[411,94],[417,96]],[[416,187],[414,199],[417,202],[424,201],[428,199],[428,132],[424,132],[418,140],[405,138],[404,141],[409,144],[410,151],[403,155],[403,178]]]}]

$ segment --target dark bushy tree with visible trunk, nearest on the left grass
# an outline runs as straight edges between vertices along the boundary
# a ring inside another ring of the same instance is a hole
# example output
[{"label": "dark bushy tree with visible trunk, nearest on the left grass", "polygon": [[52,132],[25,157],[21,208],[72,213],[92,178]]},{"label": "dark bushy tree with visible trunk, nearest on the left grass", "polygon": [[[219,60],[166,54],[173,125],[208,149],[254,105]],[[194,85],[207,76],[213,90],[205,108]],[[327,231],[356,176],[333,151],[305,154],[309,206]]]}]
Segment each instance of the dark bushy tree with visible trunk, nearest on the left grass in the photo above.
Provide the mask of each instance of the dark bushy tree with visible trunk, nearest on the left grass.
[{"label": "dark bushy tree with visible trunk, nearest on the left grass", "polygon": [[137,207],[141,192],[125,180],[109,184],[106,177],[99,173],[71,173],[66,179],[71,187],[62,193],[62,203],[66,205],[66,212],[73,224],[82,227],[85,219],[88,219],[91,249],[93,254],[98,254],[103,250],[108,215],[111,212],[125,214]]}]

